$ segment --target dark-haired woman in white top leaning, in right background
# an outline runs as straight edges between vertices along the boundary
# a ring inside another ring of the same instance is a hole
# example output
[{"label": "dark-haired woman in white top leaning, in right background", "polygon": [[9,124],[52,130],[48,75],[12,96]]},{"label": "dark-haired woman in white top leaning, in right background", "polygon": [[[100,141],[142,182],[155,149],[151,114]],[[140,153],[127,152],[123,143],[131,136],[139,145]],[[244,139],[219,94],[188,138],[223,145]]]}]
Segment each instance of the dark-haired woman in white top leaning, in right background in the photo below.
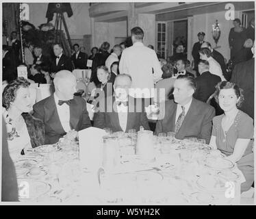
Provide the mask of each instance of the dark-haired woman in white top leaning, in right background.
[{"label": "dark-haired woman in white top leaning, in right background", "polygon": [[212,57],[212,52],[208,48],[202,48],[199,50],[201,60],[209,62],[209,72],[213,75],[218,75],[221,81],[226,81],[222,74],[220,64]]}]

